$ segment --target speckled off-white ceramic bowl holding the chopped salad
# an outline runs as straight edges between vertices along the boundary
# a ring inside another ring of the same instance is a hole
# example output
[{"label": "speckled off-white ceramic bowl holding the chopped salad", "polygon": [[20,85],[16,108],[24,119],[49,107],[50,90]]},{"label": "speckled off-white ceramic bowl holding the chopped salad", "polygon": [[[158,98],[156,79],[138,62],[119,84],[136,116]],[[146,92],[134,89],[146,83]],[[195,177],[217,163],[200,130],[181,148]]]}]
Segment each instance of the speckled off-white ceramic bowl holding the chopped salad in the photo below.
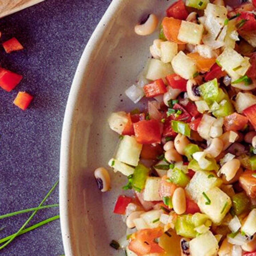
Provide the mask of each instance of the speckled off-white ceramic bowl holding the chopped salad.
[{"label": "speckled off-white ceramic bowl holding the chopped salad", "polygon": [[118,135],[107,124],[113,111],[136,106],[125,96],[147,59],[158,31],[142,37],[134,25],[149,13],[160,18],[172,1],[113,0],[89,40],[68,98],[61,140],[60,216],[66,256],[124,255],[109,246],[125,234],[114,215],[125,177],[113,175],[112,190],[101,193],[93,171],[107,166]]}]

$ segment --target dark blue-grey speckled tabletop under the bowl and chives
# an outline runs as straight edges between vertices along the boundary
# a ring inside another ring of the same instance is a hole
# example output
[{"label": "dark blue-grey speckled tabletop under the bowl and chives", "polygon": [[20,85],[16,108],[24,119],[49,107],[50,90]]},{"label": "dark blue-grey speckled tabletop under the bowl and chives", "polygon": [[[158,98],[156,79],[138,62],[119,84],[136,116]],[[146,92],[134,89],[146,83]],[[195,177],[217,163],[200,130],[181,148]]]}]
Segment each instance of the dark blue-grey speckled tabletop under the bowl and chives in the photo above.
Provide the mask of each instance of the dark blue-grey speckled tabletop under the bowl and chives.
[{"label": "dark blue-grey speckled tabletop under the bowl and chives", "polygon": [[[111,0],[47,0],[0,20],[3,42],[13,36],[21,52],[4,53],[1,66],[24,76],[10,93],[0,89],[0,214],[36,207],[59,175],[62,121],[82,51]],[[18,91],[35,96],[26,111],[12,104]],[[47,204],[58,202],[58,190]],[[57,215],[37,213],[30,224]],[[0,220],[0,237],[17,231],[29,214]],[[16,238],[6,256],[62,255],[59,220]]]}]

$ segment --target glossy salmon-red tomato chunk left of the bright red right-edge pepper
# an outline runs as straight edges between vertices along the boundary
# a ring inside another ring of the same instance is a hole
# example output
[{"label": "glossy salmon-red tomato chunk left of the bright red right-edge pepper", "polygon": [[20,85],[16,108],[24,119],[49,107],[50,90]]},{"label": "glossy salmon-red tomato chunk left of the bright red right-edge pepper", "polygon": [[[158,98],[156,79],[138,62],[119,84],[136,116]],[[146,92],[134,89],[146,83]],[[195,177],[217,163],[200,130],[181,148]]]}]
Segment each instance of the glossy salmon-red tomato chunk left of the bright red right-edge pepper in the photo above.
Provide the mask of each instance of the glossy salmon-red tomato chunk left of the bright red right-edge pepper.
[{"label": "glossy salmon-red tomato chunk left of the bright red right-edge pepper", "polygon": [[236,112],[224,118],[224,126],[227,131],[243,130],[248,122],[248,118]]}]

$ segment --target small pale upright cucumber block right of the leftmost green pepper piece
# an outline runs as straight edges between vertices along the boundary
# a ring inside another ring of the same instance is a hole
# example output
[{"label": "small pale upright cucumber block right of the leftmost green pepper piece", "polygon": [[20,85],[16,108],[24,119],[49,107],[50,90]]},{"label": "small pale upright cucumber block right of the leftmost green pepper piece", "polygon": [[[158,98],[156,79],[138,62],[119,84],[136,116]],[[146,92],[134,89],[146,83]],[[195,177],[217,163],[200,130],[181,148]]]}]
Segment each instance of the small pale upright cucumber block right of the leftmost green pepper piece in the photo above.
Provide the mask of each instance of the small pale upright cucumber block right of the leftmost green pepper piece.
[{"label": "small pale upright cucumber block right of the leftmost green pepper piece", "polygon": [[159,186],[161,178],[159,177],[148,177],[144,189],[144,200],[145,201],[161,201],[159,196]]}]

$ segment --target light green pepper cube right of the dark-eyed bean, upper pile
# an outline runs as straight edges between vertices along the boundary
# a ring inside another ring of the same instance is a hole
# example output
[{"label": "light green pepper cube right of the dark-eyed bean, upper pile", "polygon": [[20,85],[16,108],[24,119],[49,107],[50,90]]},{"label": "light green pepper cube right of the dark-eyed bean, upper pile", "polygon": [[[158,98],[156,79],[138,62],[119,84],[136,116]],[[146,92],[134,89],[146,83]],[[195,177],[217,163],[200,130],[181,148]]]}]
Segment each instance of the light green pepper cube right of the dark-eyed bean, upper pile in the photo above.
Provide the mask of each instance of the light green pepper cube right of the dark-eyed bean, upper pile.
[{"label": "light green pepper cube right of the dark-eyed bean, upper pile", "polygon": [[217,101],[216,99],[219,94],[219,86],[216,78],[212,81],[200,85],[198,89],[208,105],[212,104],[214,101]]}]

